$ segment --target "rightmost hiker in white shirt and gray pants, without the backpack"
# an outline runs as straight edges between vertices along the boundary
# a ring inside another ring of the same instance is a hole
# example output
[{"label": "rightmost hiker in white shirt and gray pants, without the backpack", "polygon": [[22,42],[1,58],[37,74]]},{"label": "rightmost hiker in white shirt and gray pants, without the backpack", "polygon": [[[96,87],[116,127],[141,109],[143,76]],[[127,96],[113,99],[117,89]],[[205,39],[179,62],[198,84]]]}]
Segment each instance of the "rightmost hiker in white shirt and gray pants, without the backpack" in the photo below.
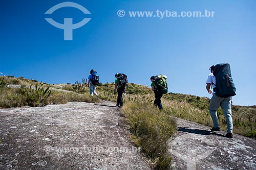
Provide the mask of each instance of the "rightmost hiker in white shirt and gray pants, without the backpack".
[{"label": "rightmost hiker in white shirt and gray pants, without the backpack", "polygon": [[212,94],[212,98],[210,99],[209,112],[210,112],[212,122],[214,123],[214,127],[211,128],[210,130],[221,131],[218,123],[218,117],[217,117],[217,110],[219,106],[221,106],[227,121],[227,134],[225,136],[228,138],[232,138],[233,123],[232,123],[232,113],[231,113],[231,104],[232,104],[231,97],[222,98],[215,94],[215,90],[214,91],[210,90],[210,86],[212,85],[212,87],[215,88],[215,84],[216,84],[216,77],[213,74],[214,67],[215,66],[212,65],[209,68],[211,71],[211,74],[209,74],[208,79],[206,81],[206,89],[208,93]]}]

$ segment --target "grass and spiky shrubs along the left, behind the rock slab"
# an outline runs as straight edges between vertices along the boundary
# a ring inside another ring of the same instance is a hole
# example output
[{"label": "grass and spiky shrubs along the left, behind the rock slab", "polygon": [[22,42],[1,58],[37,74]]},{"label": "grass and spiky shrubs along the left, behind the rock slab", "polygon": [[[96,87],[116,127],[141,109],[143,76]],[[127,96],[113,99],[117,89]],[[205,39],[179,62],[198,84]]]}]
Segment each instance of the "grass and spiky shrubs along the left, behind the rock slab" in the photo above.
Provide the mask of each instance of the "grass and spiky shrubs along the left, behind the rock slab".
[{"label": "grass and spiky shrubs along the left, behind the rock slab", "polygon": [[[65,104],[67,102],[98,103],[100,99],[91,96],[88,89],[79,89],[80,93],[72,85],[63,85],[70,92],[53,91],[51,88],[61,86],[28,80],[24,78],[0,77],[0,107],[41,107],[48,104]],[[7,85],[16,83],[20,88],[10,88]],[[65,89],[63,88],[63,89]]]}]

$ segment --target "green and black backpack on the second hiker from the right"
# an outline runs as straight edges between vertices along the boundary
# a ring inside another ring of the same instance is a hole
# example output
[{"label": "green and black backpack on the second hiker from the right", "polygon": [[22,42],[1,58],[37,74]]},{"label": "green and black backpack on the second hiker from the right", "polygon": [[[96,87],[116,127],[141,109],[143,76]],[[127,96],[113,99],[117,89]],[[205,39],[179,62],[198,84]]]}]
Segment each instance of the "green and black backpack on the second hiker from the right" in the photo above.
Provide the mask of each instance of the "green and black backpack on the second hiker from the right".
[{"label": "green and black backpack on the second hiker from the right", "polygon": [[168,92],[168,85],[167,85],[166,79],[167,79],[167,76],[163,76],[163,75],[154,76],[155,85],[157,86],[154,92],[159,92],[162,94],[165,94]]}]

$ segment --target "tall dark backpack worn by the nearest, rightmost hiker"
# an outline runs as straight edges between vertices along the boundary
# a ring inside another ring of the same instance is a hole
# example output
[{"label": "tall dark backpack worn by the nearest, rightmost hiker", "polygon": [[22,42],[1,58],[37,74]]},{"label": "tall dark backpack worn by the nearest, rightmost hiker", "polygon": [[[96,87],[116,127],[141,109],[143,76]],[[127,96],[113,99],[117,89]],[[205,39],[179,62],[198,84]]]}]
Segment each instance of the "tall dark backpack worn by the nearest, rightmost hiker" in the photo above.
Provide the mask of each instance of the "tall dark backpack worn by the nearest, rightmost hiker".
[{"label": "tall dark backpack worn by the nearest, rightmost hiker", "polygon": [[234,86],[230,65],[221,63],[214,66],[214,76],[216,77],[215,94],[222,98],[236,95],[236,87]]}]

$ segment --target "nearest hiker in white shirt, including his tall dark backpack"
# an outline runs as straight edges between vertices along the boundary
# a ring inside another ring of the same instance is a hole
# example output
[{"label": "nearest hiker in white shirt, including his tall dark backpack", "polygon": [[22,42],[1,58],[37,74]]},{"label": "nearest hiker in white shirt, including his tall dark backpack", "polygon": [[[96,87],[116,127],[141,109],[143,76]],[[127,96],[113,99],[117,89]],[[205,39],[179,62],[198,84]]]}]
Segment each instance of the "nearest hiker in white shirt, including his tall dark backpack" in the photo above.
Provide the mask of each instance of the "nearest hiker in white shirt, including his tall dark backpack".
[{"label": "nearest hiker in white shirt, including his tall dark backpack", "polygon": [[[236,87],[234,86],[230,65],[228,63],[221,63],[217,65],[212,65],[210,68],[211,74],[209,74],[206,81],[206,89],[208,93],[212,94],[210,99],[209,112],[214,124],[211,131],[221,131],[218,123],[217,110],[219,106],[223,110],[227,122],[227,133],[226,137],[233,138],[233,122],[232,122],[232,112],[231,96],[236,95]],[[210,90],[213,87],[213,91]]]}]

